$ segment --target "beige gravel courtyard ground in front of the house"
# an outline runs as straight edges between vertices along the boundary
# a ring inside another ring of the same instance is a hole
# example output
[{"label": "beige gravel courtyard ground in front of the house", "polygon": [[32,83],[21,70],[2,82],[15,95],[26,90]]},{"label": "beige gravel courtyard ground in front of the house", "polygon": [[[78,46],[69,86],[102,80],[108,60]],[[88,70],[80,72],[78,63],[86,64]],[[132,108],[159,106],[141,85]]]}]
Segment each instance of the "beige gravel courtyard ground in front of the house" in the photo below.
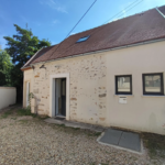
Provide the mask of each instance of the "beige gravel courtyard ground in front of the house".
[{"label": "beige gravel courtyard ground in front of the house", "polygon": [[0,114],[0,165],[145,165],[148,156],[99,144],[98,133]]}]

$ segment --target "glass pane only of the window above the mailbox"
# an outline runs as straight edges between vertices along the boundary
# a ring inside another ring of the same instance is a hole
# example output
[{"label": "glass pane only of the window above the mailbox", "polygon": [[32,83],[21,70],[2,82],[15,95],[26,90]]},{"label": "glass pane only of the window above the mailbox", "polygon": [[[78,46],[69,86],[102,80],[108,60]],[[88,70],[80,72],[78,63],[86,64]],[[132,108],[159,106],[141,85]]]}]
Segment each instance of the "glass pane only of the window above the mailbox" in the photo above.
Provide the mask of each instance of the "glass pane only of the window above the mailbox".
[{"label": "glass pane only of the window above the mailbox", "polygon": [[118,92],[119,91],[131,92],[130,77],[118,77]]}]

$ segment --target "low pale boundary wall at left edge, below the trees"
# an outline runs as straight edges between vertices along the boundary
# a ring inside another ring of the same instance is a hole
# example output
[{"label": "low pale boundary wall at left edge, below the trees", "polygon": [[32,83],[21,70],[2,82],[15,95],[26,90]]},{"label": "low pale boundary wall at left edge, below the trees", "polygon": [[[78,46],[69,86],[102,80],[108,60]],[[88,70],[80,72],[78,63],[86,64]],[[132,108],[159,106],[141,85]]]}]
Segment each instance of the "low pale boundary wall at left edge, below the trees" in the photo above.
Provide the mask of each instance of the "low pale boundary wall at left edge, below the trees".
[{"label": "low pale boundary wall at left edge, below the trees", "polygon": [[14,87],[0,87],[0,110],[16,102],[16,89]]}]

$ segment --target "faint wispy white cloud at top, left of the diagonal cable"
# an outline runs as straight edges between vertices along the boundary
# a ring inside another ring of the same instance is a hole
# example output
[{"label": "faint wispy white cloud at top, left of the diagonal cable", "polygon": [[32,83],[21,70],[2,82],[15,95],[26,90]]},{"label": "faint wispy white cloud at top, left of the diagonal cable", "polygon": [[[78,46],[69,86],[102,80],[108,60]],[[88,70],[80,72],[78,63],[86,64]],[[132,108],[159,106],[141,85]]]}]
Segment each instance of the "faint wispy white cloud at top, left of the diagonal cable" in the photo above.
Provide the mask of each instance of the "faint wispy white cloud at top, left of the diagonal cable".
[{"label": "faint wispy white cloud at top, left of the diagonal cable", "polygon": [[58,11],[58,12],[63,12],[63,13],[68,13],[65,9],[65,7],[63,7],[62,4],[59,4],[57,1],[55,0],[40,0],[41,4],[46,4],[50,8]]}]

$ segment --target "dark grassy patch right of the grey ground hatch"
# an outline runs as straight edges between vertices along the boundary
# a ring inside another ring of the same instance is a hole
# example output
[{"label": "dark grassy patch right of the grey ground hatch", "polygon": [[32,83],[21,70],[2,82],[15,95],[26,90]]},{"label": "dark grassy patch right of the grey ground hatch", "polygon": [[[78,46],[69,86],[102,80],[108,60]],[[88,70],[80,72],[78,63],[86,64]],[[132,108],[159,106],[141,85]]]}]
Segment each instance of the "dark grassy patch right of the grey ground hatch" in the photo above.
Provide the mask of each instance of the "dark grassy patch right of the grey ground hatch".
[{"label": "dark grassy patch right of the grey ground hatch", "polygon": [[165,135],[143,133],[142,139],[151,158],[165,158]]}]

